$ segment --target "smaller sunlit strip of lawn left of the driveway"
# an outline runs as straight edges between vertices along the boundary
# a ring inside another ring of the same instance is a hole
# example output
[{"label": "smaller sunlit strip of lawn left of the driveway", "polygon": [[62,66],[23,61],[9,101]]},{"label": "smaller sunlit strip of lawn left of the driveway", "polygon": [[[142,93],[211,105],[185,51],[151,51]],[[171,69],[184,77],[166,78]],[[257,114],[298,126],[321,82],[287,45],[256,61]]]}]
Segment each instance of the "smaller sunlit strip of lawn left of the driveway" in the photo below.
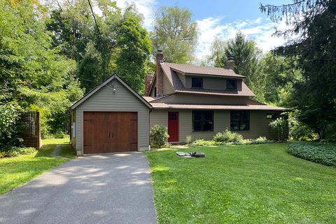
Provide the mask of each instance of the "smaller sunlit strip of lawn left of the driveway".
[{"label": "smaller sunlit strip of lawn left of the driveway", "polygon": [[[41,150],[31,155],[0,159],[0,195],[75,157],[69,138],[43,139],[42,142]],[[64,145],[61,151],[63,158],[50,157],[57,144]]]}]

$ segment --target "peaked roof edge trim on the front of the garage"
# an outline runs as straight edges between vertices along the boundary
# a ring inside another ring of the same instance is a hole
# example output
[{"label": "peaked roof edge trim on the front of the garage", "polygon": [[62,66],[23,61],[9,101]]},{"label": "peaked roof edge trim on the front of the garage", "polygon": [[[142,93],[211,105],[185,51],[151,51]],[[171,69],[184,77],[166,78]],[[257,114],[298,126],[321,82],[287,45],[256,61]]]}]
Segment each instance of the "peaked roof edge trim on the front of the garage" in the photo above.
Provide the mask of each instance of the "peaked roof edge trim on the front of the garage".
[{"label": "peaked roof edge trim on the front of the garage", "polygon": [[80,104],[82,104],[83,102],[85,102],[86,99],[90,98],[94,93],[98,92],[98,90],[102,89],[102,87],[106,86],[107,84],[109,84],[114,79],[118,80],[127,90],[130,90],[130,92],[132,94],[134,94],[134,96],[137,97],[146,106],[148,106],[149,109],[152,108],[151,104],[149,104],[146,101],[146,99],[144,99],[143,97],[141,97],[141,95],[139,93],[137,93],[137,91],[133,90],[132,87],[130,87],[130,85],[127,85],[127,83],[125,83],[125,81],[122,78],[120,78],[117,75],[113,75],[110,78],[106,79],[101,85],[98,85],[97,87],[95,87],[90,92],[87,92],[87,94],[85,94],[85,96],[83,96],[76,103],[74,103],[72,106],[70,106],[70,109],[76,109],[76,107],[78,107]]}]

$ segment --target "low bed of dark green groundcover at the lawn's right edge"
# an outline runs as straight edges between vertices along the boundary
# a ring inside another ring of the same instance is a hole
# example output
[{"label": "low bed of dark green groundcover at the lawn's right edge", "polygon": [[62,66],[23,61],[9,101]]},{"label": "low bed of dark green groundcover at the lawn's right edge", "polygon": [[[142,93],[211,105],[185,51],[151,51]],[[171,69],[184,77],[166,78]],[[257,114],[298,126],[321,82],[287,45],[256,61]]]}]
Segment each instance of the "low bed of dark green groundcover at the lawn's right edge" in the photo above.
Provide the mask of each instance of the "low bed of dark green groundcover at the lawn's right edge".
[{"label": "low bed of dark green groundcover at the lawn's right edge", "polygon": [[328,142],[297,142],[290,144],[288,153],[304,160],[336,166],[336,144]]}]

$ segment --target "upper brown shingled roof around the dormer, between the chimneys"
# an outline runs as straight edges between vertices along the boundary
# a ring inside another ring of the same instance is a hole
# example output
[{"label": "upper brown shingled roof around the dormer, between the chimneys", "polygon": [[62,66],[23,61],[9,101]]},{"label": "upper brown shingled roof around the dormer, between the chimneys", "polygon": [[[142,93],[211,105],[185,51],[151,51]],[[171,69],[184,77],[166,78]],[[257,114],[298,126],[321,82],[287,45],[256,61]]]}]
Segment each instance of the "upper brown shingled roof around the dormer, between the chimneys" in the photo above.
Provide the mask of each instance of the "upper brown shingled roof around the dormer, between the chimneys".
[{"label": "upper brown shingled roof around the dormer, between the chimneys", "polygon": [[183,85],[176,71],[182,73],[197,73],[204,76],[222,76],[222,77],[234,77],[245,78],[232,71],[231,69],[207,67],[207,66],[195,66],[189,64],[174,64],[174,63],[160,63],[163,72],[166,74],[169,82],[172,84],[175,92],[197,93],[197,94],[215,94],[215,95],[231,95],[231,96],[248,96],[253,97],[253,92],[243,82],[241,85],[241,91],[235,90],[209,90],[209,89],[193,89],[187,88]]}]

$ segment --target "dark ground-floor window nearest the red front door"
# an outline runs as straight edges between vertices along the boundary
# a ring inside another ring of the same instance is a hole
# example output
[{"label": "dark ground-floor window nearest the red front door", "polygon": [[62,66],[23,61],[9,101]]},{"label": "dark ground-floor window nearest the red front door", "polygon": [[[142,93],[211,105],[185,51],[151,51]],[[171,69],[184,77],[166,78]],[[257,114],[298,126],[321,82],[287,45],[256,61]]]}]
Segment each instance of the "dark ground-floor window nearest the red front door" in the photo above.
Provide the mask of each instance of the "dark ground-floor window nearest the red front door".
[{"label": "dark ground-floor window nearest the red front door", "polygon": [[193,132],[214,132],[214,111],[193,111]]}]

